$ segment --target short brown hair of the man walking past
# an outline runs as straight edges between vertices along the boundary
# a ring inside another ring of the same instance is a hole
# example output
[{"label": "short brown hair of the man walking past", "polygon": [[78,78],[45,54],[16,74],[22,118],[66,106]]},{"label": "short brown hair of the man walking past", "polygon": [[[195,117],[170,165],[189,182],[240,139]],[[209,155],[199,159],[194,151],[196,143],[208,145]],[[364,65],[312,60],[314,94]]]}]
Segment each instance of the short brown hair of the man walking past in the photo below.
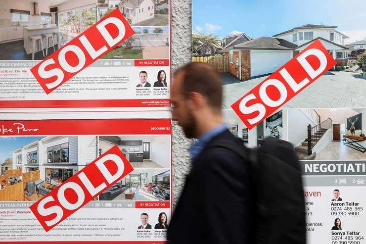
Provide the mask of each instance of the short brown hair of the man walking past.
[{"label": "short brown hair of the man walking past", "polygon": [[207,98],[215,109],[221,110],[223,99],[223,82],[220,74],[208,63],[191,62],[179,68],[176,74],[183,75],[183,95],[191,92],[200,93]]}]

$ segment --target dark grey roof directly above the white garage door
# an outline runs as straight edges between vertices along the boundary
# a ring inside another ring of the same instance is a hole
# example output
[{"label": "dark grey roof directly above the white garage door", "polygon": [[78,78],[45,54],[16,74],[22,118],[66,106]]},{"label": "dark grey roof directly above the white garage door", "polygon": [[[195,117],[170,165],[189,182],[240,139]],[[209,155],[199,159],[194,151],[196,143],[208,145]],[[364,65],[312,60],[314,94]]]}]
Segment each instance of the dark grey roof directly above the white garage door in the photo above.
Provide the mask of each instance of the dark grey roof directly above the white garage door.
[{"label": "dark grey roof directly above the white garage door", "polygon": [[290,43],[286,40],[273,37],[259,37],[254,40],[247,41],[224,49],[220,52],[226,52],[231,49],[243,49],[243,50],[292,50],[297,48],[296,44]]}]

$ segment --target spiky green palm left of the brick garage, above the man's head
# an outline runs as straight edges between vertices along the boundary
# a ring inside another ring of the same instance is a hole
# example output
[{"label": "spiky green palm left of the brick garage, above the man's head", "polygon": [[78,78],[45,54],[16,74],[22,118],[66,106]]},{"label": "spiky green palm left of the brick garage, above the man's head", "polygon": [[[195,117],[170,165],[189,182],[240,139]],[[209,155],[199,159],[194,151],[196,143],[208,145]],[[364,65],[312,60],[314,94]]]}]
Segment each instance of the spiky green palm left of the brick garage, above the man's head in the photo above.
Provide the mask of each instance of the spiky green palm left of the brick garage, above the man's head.
[{"label": "spiky green palm left of the brick garage, above the man's head", "polygon": [[218,49],[221,49],[221,40],[214,34],[205,35],[202,32],[192,35],[193,52],[208,55],[215,54]]}]

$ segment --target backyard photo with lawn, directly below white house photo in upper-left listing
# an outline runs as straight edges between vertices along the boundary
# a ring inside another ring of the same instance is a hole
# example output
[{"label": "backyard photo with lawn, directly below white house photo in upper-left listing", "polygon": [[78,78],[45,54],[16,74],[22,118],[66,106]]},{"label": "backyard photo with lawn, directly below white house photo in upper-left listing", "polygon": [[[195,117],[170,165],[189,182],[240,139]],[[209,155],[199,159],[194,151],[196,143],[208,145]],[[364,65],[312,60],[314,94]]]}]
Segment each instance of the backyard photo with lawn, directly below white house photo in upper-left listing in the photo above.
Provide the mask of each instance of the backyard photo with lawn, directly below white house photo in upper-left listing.
[{"label": "backyard photo with lawn, directly below white house photo in upper-left listing", "polygon": [[100,59],[169,58],[169,29],[134,27],[135,34]]}]

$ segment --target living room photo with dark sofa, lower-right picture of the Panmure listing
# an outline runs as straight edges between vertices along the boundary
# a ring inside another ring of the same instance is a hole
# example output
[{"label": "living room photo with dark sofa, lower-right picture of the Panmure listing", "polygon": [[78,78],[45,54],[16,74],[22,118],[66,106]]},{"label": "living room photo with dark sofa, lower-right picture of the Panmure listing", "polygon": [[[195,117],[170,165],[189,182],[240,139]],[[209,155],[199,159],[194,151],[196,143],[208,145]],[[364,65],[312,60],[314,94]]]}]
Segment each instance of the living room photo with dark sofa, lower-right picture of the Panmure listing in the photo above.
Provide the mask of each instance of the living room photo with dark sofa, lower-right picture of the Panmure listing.
[{"label": "living room photo with dark sofa, lower-right picture of the Panmure listing", "polygon": [[99,200],[168,201],[170,200],[170,170],[135,169],[99,195]]}]

